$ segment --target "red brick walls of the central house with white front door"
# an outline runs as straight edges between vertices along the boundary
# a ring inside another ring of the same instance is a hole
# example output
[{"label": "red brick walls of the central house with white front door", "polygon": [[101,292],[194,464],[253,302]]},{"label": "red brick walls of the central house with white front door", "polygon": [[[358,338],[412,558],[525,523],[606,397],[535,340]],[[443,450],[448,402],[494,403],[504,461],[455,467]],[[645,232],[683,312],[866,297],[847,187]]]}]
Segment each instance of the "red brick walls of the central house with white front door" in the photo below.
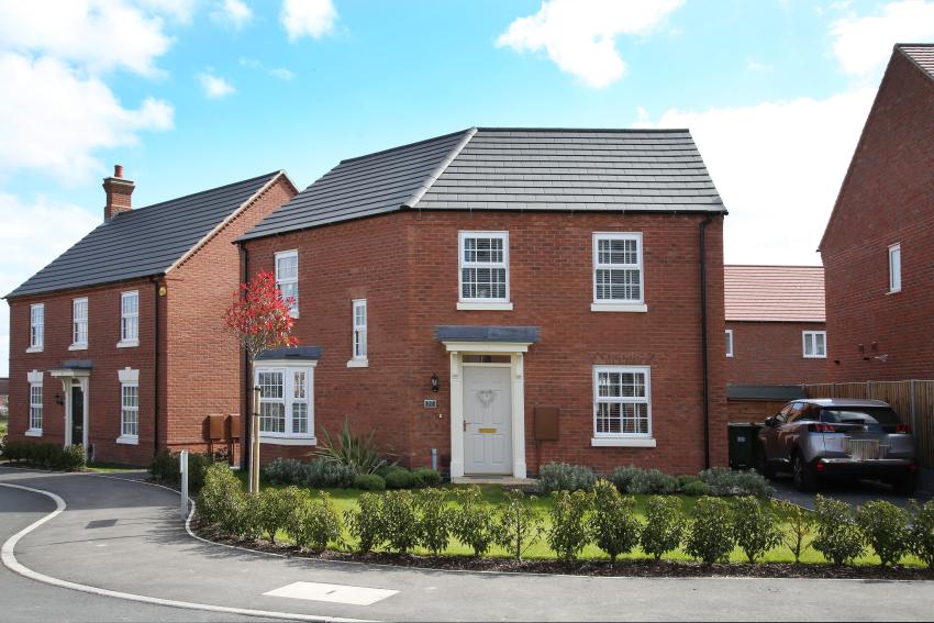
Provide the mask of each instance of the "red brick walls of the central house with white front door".
[{"label": "red brick walls of the central house with white front door", "polygon": [[[437,448],[449,460],[449,359],[434,338],[442,324],[541,326],[525,357],[526,463],[549,460],[602,470],[635,463],[669,472],[703,466],[700,289],[697,215],[490,212],[400,213],[265,238],[248,244],[251,271],[271,269],[276,251],[299,249],[296,334],[320,345],[315,432],[345,416],[359,433],[410,465]],[[457,311],[457,232],[510,232],[511,312]],[[594,313],[592,233],[643,232],[648,313]],[[726,461],[722,222],[708,229],[711,446]],[[369,368],[348,369],[351,300],[367,298]],[[592,366],[652,367],[657,447],[593,448]],[[432,394],[437,372],[441,391]],[[436,398],[426,410],[424,398]],[[560,405],[559,442],[532,437],[536,404]],[[440,418],[438,414],[442,416]],[[266,458],[308,448],[264,445]],[[446,459],[446,460],[445,460]]]}]

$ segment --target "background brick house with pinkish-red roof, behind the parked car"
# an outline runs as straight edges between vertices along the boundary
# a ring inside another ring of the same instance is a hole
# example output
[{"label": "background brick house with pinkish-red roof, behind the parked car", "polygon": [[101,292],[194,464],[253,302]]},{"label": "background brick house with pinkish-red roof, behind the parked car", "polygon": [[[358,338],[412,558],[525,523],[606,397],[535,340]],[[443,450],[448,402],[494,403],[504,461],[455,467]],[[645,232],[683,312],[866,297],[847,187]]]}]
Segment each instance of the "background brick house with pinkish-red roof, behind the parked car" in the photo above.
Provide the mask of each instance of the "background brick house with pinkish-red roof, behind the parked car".
[{"label": "background brick house with pinkish-red roof, behind the parked car", "polygon": [[731,421],[761,421],[826,380],[822,267],[725,266],[724,294]]}]

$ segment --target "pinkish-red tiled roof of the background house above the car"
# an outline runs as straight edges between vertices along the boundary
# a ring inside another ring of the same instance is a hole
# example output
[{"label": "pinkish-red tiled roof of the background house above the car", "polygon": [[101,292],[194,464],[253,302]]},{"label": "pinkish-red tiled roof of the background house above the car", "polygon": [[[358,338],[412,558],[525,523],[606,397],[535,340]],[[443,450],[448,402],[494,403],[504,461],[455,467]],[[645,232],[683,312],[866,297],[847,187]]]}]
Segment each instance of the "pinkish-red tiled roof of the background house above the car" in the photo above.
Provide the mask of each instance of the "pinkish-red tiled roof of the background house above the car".
[{"label": "pinkish-red tiled roof of the background house above the car", "polygon": [[826,322],[822,266],[727,265],[723,270],[727,322]]}]

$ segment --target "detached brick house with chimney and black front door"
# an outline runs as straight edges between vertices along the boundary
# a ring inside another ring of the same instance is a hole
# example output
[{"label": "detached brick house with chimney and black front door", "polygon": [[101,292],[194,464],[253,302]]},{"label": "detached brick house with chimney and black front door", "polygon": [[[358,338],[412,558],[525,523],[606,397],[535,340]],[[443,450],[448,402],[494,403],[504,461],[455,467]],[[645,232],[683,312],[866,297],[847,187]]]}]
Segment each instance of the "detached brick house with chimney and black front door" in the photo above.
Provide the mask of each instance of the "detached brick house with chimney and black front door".
[{"label": "detached brick house with chimney and black front door", "polygon": [[103,187],[104,222],[7,296],[10,438],[130,465],[204,449],[205,415],[240,412],[232,242],[297,189],[277,171],[133,210],[122,167]]}]

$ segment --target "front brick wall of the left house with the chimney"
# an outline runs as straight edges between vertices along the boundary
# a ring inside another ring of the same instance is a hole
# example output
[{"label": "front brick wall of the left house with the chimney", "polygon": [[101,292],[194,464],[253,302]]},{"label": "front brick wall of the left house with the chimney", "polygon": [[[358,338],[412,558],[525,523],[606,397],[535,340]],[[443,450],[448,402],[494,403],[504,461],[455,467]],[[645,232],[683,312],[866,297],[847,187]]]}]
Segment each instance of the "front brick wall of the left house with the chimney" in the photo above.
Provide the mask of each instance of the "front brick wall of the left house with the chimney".
[{"label": "front brick wall of the left house with the chimney", "polygon": [[[118,348],[120,342],[121,293],[140,292],[140,346]],[[60,368],[66,359],[91,359],[88,390],[88,443],[98,460],[143,464],[153,456],[154,390],[154,286],[148,280],[124,281],[105,287],[70,290],[10,300],[10,438],[65,443],[65,407],[62,382],[48,370]],[[71,345],[71,301],[88,299],[88,348],[69,351]],[[42,353],[26,353],[30,345],[30,305],[45,304],[45,340]],[[120,436],[121,388],[118,370],[140,370],[140,445],[116,443]],[[43,436],[24,437],[29,427],[27,372],[43,375]]]}]

